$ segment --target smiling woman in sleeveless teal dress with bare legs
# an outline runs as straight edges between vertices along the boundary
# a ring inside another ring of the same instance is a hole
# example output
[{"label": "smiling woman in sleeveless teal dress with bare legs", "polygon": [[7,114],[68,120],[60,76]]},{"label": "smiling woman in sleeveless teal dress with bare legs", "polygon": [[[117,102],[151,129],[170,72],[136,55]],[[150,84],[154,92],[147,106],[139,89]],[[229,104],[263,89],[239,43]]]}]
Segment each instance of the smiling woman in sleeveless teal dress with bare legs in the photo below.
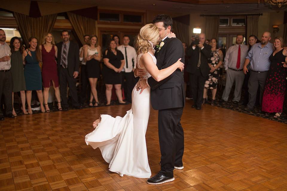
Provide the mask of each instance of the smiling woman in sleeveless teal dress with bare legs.
[{"label": "smiling woman in sleeveless teal dress with bare legs", "polygon": [[28,113],[32,114],[31,99],[32,90],[36,90],[37,96],[41,106],[41,112],[45,113],[43,105],[42,92],[42,76],[39,61],[41,60],[41,53],[38,45],[38,40],[35,37],[29,38],[29,46],[23,52],[23,60],[25,59],[24,76],[26,82],[26,98],[28,105]]}]

